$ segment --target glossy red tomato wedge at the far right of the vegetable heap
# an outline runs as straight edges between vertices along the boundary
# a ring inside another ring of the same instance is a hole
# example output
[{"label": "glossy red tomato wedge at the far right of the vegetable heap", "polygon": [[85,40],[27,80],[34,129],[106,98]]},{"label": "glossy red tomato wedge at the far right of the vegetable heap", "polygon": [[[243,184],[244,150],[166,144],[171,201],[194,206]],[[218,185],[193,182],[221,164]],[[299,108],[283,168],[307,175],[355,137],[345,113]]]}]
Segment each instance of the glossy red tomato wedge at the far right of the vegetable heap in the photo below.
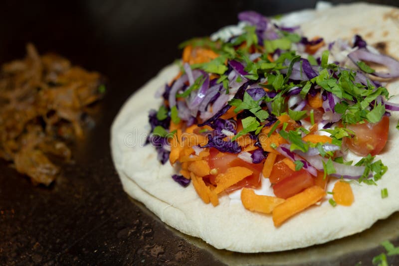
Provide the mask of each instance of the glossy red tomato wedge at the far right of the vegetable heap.
[{"label": "glossy red tomato wedge at the far right of the vegetable heap", "polygon": [[348,125],[347,129],[355,132],[355,136],[346,138],[345,142],[349,149],[358,155],[366,156],[370,153],[374,156],[379,154],[385,147],[388,139],[389,127],[389,117],[383,117],[383,119],[376,124],[366,122],[364,124]]}]

